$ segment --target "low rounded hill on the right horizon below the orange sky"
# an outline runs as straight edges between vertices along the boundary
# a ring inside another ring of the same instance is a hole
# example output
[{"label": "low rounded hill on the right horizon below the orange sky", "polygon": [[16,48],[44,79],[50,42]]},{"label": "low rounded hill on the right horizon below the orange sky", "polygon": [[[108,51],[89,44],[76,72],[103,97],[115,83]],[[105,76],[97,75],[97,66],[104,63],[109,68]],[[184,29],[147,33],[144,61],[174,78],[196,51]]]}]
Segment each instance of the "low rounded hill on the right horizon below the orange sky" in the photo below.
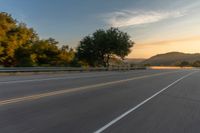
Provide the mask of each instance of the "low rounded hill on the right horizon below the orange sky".
[{"label": "low rounded hill on the right horizon below the orange sky", "polygon": [[166,54],[158,54],[145,61],[142,64],[149,64],[152,66],[172,66],[182,61],[194,62],[200,60],[200,54],[186,54],[180,52],[170,52]]}]

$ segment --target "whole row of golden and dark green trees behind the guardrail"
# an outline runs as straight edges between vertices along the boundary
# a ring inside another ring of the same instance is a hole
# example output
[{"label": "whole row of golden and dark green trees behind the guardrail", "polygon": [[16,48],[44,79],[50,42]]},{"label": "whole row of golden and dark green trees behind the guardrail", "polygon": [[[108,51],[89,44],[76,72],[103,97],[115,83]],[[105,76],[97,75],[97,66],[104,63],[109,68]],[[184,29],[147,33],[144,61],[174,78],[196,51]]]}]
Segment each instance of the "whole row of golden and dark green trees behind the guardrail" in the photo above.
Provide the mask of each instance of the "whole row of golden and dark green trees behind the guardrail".
[{"label": "whole row of golden and dark green trees behind the guardrail", "polygon": [[99,29],[73,49],[53,38],[40,39],[33,28],[0,12],[0,66],[104,66],[123,60],[134,42],[117,28]]}]

